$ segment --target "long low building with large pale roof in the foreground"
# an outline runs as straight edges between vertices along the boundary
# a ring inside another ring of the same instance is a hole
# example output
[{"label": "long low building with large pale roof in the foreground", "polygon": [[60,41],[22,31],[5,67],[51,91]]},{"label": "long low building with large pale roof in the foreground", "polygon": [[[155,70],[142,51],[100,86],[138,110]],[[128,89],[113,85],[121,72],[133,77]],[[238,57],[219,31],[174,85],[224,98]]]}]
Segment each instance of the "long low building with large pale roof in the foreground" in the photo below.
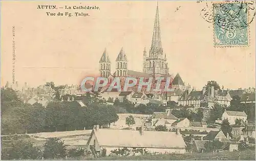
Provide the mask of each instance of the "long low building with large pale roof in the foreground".
[{"label": "long low building with large pale roof in the foreground", "polygon": [[151,153],[176,153],[184,154],[186,144],[177,132],[144,131],[141,130],[113,130],[93,129],[88,140],[88,148],[93,154],[101,154],[105,149],[106,155],[110,155],[118,148],[146,148]]}]

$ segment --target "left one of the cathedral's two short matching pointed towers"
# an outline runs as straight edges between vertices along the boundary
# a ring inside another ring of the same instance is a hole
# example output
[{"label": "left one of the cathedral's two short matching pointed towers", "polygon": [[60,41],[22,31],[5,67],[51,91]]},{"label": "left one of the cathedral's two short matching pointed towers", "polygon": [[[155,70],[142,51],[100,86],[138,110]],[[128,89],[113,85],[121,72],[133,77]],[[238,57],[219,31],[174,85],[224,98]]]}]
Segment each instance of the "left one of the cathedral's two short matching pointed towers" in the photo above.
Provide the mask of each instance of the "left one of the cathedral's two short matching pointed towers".
[{"label": "left one of the cathedral's two short matching pointed towers", "polygon": [[100,65],[99,67],[100,76],[109,77],[111,72],[111,62],[110,62],[109,55],[106,54],[106,49],[104,50],[100,58],[99,65]]}]

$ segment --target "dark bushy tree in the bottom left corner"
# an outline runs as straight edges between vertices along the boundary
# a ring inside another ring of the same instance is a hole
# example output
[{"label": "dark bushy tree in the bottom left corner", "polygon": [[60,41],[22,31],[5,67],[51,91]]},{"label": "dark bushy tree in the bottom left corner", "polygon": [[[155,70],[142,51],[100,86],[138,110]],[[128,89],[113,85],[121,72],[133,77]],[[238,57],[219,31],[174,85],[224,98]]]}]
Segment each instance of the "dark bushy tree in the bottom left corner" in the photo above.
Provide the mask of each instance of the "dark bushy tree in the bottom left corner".
[{"label": "dark bushy tree in the bottom left corner", "polygon": [[33,143],[25,140],[15,140],[11,143],[11,148],[2,149],[2,159],[38,159],[41,157],[41,152]]}]

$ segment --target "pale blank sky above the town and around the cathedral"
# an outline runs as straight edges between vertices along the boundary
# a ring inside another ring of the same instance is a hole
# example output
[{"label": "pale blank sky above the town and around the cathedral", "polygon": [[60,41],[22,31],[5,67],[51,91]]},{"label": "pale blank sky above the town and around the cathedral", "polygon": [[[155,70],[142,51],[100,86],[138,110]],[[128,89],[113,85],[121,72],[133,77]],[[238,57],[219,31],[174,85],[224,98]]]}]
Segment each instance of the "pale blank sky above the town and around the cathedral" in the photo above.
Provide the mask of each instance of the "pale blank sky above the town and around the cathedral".
[{"label": "pale blank sky above the town and around the cathedral", "polygon": [[[98,6],[99,10],[37,9],[38,5]],[[128,69],[142,71],[157,2],[2,2],[1,86],[12,82],[13,26],[14,77],[20,85],[80,84],[99,73],[99,59],[106,48],[115,59],[123,47]],[[179,73],[198,90],[207,81],[228,89],[255,87],[255,21],[250,24],[250,46],[214,47],[213,24],[200,15],[205,3],[159,1],[163,52],[169,73]],[[179,8],[177,10],[177,8]],[[176,11],[177,10],[177,11]],[[90,16],[47,16],[46,12],[83,12]]]}]

